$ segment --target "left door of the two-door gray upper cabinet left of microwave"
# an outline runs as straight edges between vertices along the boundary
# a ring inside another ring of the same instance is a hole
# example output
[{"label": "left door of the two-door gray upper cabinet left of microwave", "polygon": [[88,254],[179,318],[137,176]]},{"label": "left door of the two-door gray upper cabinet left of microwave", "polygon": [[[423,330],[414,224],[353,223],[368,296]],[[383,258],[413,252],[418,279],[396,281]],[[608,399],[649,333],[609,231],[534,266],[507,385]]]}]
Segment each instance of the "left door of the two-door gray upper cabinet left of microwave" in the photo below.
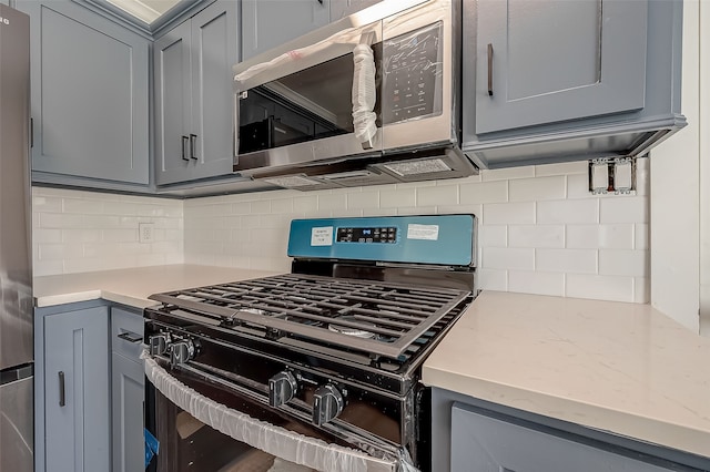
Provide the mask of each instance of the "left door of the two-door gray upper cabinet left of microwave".
[{"label": "left door of the two-door gray upper cabinet left of microwave", "polygon": [[191,39],[190,21],[185,21],[153,44],[158,184],[186,178],[196,164],[189,154]]}]

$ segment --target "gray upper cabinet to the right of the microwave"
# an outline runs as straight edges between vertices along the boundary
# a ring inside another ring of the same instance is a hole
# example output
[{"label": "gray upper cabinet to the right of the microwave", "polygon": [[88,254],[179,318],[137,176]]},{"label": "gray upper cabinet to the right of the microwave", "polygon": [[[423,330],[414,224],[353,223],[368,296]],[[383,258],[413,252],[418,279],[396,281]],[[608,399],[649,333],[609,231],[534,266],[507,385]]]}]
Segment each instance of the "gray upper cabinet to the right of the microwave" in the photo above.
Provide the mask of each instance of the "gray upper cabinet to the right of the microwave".
[{"label": "gray upper cabinet to the right of the microwave", "polygon": [[641,155],[680,114],[682,2],[464,2],[463,148],[481,167]]}]

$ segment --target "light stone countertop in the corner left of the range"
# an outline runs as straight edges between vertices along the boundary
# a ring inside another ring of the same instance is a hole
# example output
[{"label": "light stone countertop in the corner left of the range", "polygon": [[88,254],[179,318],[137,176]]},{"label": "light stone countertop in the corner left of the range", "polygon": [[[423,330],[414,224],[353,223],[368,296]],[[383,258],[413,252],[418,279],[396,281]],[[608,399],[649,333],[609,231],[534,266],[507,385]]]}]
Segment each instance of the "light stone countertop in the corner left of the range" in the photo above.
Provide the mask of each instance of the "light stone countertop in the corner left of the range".
[{"label": "light stone countertop in the corner left of the range", "polygon": [[179,264],[34,277],[34,306],[103,298],[135,308],[155,305],[152,294],[265,277],[277,273]]}]

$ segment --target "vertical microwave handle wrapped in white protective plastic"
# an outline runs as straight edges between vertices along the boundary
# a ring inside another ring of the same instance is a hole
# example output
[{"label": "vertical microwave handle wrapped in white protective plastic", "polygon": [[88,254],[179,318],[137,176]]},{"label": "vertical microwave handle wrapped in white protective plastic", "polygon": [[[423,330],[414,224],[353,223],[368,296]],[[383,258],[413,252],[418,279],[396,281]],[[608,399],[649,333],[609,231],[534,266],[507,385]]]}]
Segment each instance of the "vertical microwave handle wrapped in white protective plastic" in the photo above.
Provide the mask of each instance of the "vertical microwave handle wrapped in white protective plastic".
[{"label": "vertical microwave handle wrapped in white protective plastic", "polygon": [[353,51],[355,72],[353,73],[353,127],[363,150],[374,147],[373,140],[377,132],[374,112],[377,100],[375,84],[375,58],[369,44],[357,44]]}]

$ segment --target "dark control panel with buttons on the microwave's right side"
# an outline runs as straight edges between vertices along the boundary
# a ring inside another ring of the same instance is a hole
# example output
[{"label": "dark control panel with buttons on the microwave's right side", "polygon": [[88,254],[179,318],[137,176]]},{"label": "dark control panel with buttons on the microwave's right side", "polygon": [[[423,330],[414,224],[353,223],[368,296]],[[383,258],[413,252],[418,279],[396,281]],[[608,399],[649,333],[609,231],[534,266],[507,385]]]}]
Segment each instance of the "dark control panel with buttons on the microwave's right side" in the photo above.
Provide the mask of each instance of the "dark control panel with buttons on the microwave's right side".
[{"label": "dark control panel with buttons on the microwave's right side", "polygon": [[383,124],[442,113],[442,23],[384,41]]}]

